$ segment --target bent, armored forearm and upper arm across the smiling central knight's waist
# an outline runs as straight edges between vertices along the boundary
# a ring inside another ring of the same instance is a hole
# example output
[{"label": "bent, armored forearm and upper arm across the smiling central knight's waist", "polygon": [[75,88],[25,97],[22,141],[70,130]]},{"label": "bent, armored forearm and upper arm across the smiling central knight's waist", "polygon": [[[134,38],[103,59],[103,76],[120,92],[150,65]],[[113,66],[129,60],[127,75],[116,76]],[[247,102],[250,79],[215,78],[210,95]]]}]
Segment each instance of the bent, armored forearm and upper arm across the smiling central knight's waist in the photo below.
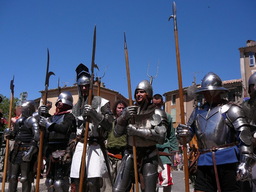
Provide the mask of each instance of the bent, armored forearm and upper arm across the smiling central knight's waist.
[{"label": "bent, armored forearm and upper arm across the smiling central knight's waist", "polygon": [[127,134],[129,136],[137,136],[142,139],[156,141],[160,145],[164,144],[165,134],[168,127],[168,118],[164,110],[157,108],[153,115],[153,120],[150,121],[151,129],[137,127],[129,124]]}]

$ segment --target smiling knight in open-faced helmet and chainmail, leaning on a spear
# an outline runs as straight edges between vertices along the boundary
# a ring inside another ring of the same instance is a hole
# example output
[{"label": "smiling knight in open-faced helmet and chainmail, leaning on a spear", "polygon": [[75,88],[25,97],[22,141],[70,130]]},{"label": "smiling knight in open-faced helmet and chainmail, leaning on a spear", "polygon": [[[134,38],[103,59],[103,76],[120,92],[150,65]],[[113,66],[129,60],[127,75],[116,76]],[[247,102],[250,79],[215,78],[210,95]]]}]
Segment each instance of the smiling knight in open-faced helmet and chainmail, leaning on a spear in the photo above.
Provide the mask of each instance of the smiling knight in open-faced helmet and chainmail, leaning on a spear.
[{"label": "smiling knight in open-faced helmet and chainmail, leaning on a spear", "polygon": [[[120,137],[127,132],[127,147],[116,176],[113,192],[130,190],[129,187],[134,179],[132,136],[135,137],[140,183],[144,183],[144,185],[141,184],[141,190],[156,191],[158,172],[163,168],[156,144],[164,144],[168,119],[166,113],[151,102],[152,97],[151,84],[147,80],[141,81],[134,92],[136,104],[124,109],[115,121],[114,136]],[[135,124],[131,124],[132,116]]]}]

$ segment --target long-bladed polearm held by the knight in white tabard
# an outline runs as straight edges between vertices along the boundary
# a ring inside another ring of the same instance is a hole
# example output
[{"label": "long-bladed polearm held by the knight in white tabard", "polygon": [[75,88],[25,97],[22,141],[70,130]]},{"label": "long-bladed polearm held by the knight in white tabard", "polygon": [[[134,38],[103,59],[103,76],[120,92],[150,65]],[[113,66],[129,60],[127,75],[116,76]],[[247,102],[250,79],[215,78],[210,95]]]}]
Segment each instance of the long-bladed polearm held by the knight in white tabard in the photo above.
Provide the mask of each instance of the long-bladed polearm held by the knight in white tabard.
[{"label": "long-bladed polearm held by the knight in white tabard", "polygon": [[[95,48],[96,48],[96,25],[94,28],[93,34],[93,48],[92,48],[92,75],[91,75],[91,82],[90,82],[90,89],[88,95],[88,105],[92,104],[92,89],[93,89],[93,79],[94,79],[94,68],[98,68],[98,66],[94,63],[95,59]],[[90,117],[86,116],[86,124],[85,124],[85,132],[84,132],[84,148],[83,148],[83,155],[82,155],[82,162],[81,162],[81,173],[80,173],[80,184],[79,184],[79,192],[83,190],[83,181],[84,181],[84,171],[85,171],[85,157],[86,157],[86,149],[87,149],[87,140],[89,134],[89,124],[90,124]],[[82,136],[82,135],[81,135]]]}]

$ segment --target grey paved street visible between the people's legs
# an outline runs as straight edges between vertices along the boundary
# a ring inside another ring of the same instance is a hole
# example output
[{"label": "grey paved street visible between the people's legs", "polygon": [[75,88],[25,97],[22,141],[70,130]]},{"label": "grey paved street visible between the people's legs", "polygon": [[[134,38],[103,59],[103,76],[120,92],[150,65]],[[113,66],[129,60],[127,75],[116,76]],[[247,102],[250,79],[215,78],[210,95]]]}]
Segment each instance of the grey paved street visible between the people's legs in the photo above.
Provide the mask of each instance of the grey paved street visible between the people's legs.
[{"label": "grey paved street visible between the people's legs", "polygon": [[[184,172],[183,171],[172,171],[172,179],[173,179],[173,186],[172,186],[172,191],[173,192],[185,192],[185,180],[183,180],[184,178]],[[45,178],[44,179],[40,179],[40,187],[39,187],[39,191],[41,192],[47,192],[47,188],[44,184],[45,182]],[[2,188],[2,178],[0,179],[0,192],[1,192],[1,188]],[[36,187],[36,180],[35,180],[35,187]],[[163,192],[163,187],[160,185],[157,185],[157,187],[159,187],[159,192]],[[192,188],[192,185],[189,185],[189,191],[193,192],[194,188]],[[8,183],[5,183],[5,191],[7,191],[8,189]],[[34,191],[34,187],[33,187],[33,183],[32,183],[32,189],[31,191]],[[19,182],[18,184],[18,192],[22,192],[22,188],[21,188],[21,183]]]}]

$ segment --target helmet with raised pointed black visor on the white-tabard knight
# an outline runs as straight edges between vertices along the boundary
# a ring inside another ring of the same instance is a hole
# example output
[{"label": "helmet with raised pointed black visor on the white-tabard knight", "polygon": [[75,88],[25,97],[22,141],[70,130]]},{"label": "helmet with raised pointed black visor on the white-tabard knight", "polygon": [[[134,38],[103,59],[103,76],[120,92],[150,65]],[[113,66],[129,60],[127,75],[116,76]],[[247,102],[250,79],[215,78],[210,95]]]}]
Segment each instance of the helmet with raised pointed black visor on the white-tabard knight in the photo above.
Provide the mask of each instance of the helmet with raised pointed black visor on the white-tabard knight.
[{"label": "helmet with raised pointed black visor on the white-tabard knight", "polygon": [[78,95],[79,97],[81,97],[81,90],[79,86],[90,84],[91,82],[91,75],[89,73],[89,69],[82,63],[76,68],[76,79]]}]

